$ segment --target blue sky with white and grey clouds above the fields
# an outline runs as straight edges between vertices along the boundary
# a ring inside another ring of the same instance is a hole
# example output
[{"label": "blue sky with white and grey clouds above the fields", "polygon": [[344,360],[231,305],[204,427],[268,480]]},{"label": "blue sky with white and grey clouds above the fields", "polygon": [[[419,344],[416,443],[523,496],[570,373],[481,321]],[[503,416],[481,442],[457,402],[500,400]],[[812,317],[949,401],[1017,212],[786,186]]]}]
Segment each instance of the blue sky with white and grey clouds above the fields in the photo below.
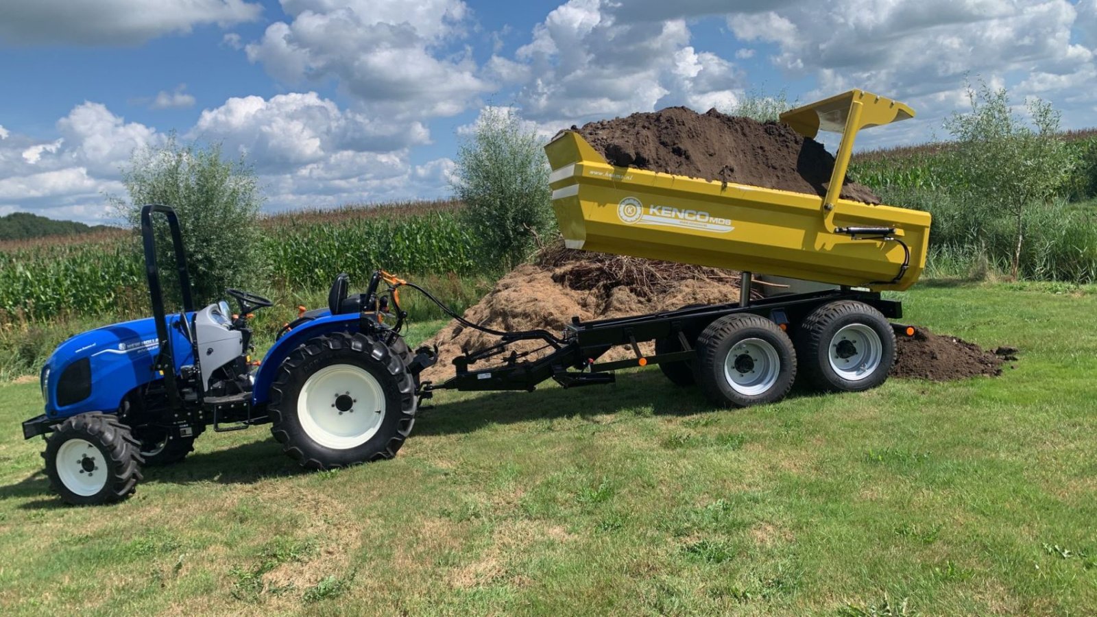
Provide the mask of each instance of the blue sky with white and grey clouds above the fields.
[{"label": "blue sky with white and grey clouds above the fields", "polygon": [[[871,8],[871,10],[869,10]],[[247,153],[270,211],[449,193],[486,105],[531,131],[864,88],[942,136],[964,75],[1097,124],[1092,0],[0,0],[0,214],[88,222],[174,131]]]}]

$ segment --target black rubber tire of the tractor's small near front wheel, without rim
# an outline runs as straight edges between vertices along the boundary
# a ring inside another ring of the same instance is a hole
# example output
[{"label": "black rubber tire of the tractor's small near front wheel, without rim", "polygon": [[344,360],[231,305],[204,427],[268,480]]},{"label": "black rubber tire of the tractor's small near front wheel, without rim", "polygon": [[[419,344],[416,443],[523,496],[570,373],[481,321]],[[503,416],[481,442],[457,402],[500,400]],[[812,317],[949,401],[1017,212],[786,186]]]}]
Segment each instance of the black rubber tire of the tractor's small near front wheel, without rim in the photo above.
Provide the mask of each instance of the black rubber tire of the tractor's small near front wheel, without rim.
[{"label": "black rubber tire of the tractor's small near front wheel, without rim", "polygon": [[[105,450],[111,480],[106,484],[108,490],[101,495],[84,497],[71,494],[57,475],[57,450],[69,438],[86,439]],[[129,433],[129,427],[116,416],[101,412],[76,415],[63,422],[49,436],[45,459],[50,487],[73,505],[110,504],[126,500],[136,492],[137,482],[143,479],[140,465],[145,462],[140,456],[140,442]]]}]

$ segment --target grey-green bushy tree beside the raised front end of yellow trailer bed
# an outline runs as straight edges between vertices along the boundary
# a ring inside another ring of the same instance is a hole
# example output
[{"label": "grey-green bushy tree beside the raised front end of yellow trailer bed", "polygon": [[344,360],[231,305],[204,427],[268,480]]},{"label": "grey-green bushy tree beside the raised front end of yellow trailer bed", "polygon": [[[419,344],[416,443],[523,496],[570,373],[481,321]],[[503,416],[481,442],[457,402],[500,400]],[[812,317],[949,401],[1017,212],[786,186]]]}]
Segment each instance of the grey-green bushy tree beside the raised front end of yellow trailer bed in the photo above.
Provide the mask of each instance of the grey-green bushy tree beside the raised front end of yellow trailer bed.
[{"label": "grey-green bushy tree beside the raised front end of yellow trailer bed", "polygon": [[489,263],[520,262],[554,223],[543,145],[513,112],[489,106],[457,150],[454,190]]}]

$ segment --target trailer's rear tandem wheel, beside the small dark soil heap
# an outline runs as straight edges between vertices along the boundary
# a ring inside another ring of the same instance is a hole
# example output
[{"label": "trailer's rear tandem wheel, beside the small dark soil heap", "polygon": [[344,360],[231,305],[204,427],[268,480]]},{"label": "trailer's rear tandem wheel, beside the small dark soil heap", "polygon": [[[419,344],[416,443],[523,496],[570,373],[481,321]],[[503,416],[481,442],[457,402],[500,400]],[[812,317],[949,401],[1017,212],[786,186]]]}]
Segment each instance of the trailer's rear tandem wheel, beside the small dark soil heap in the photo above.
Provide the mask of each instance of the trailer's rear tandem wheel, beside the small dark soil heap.
[{"label": "trailer's rear tandem wheel, beside the small dark soil heap", "polygon": [[895,363],[895,333],[863,302],[841,300],[813,311],[796,328],[804,375],[822,390],[860,392],[887,380]]}]

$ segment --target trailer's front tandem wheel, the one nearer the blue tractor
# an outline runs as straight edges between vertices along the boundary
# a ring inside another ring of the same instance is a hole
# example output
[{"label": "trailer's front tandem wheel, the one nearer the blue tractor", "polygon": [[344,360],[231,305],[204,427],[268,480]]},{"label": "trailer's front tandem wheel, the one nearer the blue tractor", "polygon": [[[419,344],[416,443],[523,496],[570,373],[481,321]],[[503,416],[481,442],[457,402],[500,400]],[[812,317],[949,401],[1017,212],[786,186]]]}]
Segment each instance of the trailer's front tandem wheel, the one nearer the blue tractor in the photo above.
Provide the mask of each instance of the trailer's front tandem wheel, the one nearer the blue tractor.
[{"label": "trailer's front tandem wheel, the one nearer the blue tractor", "polygon": [[721,406],[780,401],[796,377],[792,341],[758,315],[726,315],[709,324],[698,337],[697,356],[697,382]]}]

